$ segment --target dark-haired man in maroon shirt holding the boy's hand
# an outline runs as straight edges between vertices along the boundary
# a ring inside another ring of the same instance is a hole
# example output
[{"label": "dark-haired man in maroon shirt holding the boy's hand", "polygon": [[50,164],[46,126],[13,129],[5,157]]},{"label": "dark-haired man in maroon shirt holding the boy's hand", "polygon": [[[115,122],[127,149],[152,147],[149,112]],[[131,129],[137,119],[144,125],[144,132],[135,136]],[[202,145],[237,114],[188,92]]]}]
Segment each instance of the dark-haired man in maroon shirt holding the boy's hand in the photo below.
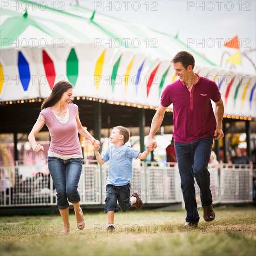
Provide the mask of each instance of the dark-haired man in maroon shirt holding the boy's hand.
[{"label": "dark-haired man in maroon shirt holding the boy's hand", "polygon": [[[194,73],[195,59],[191,54],[179,52],[172,62],[180,80],[168,85],[162,93],[161,104],[151,123],[147,148],[157,147],[154,135],[162,124],[166,109],[173,104],[175,152],[187,210],[185,226],[196,227],[199,214],[194,177],[201,191],[203,218],[206,222],[215,219],[207,166],[213,138],[218,140],[224,137],[224,106],[216,83]],[[216,105],[215,114],[211,100]]]}]

